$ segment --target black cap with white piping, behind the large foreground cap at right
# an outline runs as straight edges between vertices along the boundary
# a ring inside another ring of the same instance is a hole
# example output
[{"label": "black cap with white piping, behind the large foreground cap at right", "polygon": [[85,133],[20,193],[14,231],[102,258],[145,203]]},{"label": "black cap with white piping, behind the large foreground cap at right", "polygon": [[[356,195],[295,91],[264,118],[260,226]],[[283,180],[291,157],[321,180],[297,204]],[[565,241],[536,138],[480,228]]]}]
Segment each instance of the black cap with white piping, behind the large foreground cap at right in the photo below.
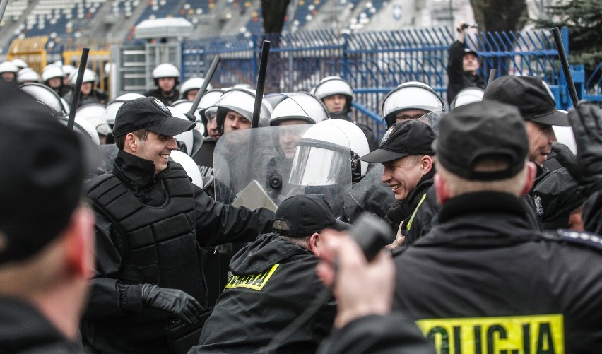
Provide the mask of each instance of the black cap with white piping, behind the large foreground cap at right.
[{"label": "black cap with white piping, behind the large foreground cap at right", "polygon": [[548,84],[535,76],[502,76],[487,85],[483,100],[497,100],[519,108],[524,120],[570,126],[566,112],[556,110]]}]

